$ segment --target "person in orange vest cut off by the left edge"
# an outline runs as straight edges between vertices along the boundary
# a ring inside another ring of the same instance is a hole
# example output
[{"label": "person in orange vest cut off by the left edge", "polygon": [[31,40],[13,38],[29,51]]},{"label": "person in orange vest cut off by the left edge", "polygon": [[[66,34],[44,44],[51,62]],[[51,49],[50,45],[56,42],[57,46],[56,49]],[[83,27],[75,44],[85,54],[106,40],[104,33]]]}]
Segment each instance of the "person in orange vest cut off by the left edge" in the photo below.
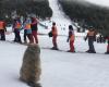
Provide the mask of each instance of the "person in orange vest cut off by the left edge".
[{"label": "person in orange vest cut off by the left edge", "polygon": [[0,36],[1,36],[1,38],[0,38],[0,40],[5,40],[5,30],[7,30],[7,28],[5,28],[5,22],[4,21],[0,21]]}]

